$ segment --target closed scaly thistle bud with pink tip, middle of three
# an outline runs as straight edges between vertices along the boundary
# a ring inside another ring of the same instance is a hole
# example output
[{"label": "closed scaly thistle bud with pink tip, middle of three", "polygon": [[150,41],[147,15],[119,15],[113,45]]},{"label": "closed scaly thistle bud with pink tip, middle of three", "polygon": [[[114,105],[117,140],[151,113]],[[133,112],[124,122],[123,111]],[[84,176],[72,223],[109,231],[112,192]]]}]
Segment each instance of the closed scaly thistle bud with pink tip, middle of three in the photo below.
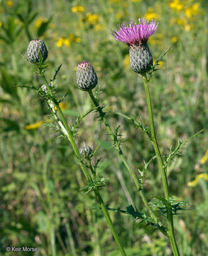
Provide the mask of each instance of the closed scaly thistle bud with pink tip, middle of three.
[{"label": "closed scaly thistle bud with pink tip, middle of three", "polygon": [[88,61],[77,65],[77,85],[80,90],[91,90],[97,85],[97,74]]}]

